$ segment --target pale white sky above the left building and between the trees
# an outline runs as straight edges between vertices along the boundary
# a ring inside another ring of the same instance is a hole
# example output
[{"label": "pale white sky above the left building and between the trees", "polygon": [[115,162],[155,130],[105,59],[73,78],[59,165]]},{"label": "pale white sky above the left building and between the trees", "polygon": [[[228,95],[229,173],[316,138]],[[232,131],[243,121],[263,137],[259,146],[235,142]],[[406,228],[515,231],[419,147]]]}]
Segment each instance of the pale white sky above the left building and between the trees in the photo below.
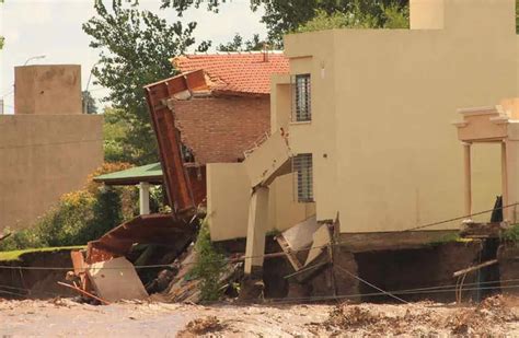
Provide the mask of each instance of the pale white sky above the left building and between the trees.
[{"label": "pale white sky above the left building and between the trees", "polygon": [[[111,3],[112,0],[105,0]],[[182,18],[172,9],[160,10],[160,0],[140,0],[142,9],[151,10],[169,21],[182,20],[198,23],[195,30],[197,42],[212,40],[212,49],[230,40],[234,33],[250,38],[254,33],[266,35],[260,23],[262,11],[253,13],[250,0],[231,0],[220,7],[219,13],[208,12],[206,7],[191,9]],[[92,66],[97,60],[97,50],[89,47],[90,36],[81,24],[94,15],[93,0],[5,0],[0,4],[0,35],[5,45],[0,51],[0,98],[4,97],[5,114],[13,113],[14,66],[28,58],[45,55],[38,63],[77,63],[82,69],[82,88],[86,85]],[[93,79],[94,80],[94,79]],[[106,90],[90,83],[92,95],[100,98]],[[97,106],[102,106],[97,104]]]}]

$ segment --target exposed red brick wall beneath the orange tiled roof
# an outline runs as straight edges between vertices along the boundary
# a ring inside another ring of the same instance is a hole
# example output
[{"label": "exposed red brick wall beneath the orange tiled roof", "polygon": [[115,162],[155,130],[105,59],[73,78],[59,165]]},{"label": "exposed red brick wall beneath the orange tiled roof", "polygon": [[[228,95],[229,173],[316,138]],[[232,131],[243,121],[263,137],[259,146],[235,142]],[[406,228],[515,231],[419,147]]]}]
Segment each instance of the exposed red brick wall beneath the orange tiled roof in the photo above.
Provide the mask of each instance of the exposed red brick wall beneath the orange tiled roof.
[{"label": "exposed red brick wall beneath the orange tiled roof", "polygon": [[175,101],[182,142],[201,164],[237,162],[270,129],[269,97],[207,97]]}]

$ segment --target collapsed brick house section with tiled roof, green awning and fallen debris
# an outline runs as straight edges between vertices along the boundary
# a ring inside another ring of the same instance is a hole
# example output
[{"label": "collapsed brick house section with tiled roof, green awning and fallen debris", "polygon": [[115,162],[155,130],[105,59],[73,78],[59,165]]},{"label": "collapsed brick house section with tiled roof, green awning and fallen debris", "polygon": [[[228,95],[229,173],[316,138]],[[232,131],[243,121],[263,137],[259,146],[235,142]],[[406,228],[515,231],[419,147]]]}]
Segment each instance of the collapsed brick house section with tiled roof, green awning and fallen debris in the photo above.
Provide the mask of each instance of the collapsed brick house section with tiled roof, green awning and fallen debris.
[{"label": "collapsed brick house section with tiled roof, green awning and fallen debris", "polygon": [[[287,59],[272,51],[192,55],[172,62],[180,75],[146,88],[161,163],[94,178],[107,186],[138,186],[140,214],[90,242],[85,253],[72,254],[80,292],[94,291],[107,302],[147,296],[130,261],[168,265],[188,250],[198,209],[206,203],[206,164],[243,161],[266,138],[270,77],[288,71]],[[154,185],[164,186],[171,213],[150,212]],[[139,245],[146,248],[139,252]],[[108,276],[104,269],[117,272]],[[123,275],[127,287],[109,287]]]}]

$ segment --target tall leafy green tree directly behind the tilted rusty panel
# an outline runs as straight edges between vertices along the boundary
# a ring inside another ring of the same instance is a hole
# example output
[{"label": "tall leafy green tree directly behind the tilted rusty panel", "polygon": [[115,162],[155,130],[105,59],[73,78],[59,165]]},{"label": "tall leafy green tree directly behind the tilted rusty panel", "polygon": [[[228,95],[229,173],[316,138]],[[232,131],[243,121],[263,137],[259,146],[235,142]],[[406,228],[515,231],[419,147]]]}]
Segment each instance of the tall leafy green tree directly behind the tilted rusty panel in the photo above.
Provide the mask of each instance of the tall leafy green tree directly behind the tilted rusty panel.
[{"label": "tall leafy green tree directly behind the tilted rusty panel", "polygon": [[96,0],[94,9],[96,16],[83,24],[92,37],[90,46],[100,50],[92,73],[109,90],[106,100],[118,109],[117,117],[128,124],[124,136],[130,145],[128,159],[136,164],[155,162],[155,137],[142,86],[175,74],[169,60],[195,44],[196,23],[169,24],[140,10],[137,0],[112,0],[109,9]]}]

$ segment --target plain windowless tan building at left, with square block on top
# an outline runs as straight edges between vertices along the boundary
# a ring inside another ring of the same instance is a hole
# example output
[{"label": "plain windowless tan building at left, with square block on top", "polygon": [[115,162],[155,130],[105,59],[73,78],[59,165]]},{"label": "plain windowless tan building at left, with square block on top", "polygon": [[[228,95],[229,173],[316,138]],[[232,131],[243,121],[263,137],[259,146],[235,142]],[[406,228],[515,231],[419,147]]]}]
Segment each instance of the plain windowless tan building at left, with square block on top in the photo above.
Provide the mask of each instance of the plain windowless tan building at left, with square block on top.
[{"label": "plain windowless tan building at left, with square block on top", "polygon": [[83,115],[80,66],[15,68],[0,115],[0,233],[28,226],[103,162],[102,116]]}]

